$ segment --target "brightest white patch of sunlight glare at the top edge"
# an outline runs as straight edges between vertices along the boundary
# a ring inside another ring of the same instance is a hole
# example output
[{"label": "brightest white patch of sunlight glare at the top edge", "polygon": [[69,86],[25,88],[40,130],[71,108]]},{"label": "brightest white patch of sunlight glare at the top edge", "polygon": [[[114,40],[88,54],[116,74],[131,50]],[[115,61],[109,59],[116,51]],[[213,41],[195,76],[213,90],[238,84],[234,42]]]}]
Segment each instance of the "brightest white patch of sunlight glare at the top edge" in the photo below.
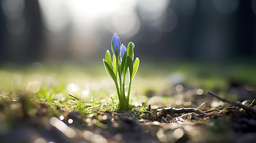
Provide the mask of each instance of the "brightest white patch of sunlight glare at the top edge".
[{"label": "brightest white patch of sunlight glare at the top edge", "polygon": [[[93,31],[97,22],[120,11],[121,2],[118,0],[67,0],[72,24],[76,31]],[[121,13],[121,12],[119,12]]]}]

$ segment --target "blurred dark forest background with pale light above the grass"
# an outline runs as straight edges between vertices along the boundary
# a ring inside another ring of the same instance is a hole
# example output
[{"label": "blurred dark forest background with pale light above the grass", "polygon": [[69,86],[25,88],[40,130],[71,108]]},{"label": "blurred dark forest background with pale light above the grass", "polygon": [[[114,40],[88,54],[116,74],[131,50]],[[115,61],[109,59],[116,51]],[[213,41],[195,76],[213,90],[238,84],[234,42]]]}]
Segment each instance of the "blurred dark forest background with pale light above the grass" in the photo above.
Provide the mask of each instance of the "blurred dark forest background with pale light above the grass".
[{"label": "blurred dark forest background with pale light above the grass", "polygon": [[0,63],[102,62],[112,34],[151,60],[254,62],[256,0],[0,0]]}]

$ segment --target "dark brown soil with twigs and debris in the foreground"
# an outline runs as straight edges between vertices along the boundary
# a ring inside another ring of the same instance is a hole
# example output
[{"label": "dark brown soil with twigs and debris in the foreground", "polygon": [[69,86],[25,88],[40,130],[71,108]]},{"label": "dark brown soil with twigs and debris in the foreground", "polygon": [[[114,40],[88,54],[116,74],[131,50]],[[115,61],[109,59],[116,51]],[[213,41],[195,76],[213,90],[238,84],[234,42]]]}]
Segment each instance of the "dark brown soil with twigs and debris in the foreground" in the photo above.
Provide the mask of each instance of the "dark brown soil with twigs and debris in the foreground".
[{"label": "dark brown soil with twigs and debris in the foreground", "polygon": [[[255,94],[254,92],[250,92]],[[83,115],[76,110],[34,102],[30,97],[0,101],[1,143],[253,143],[256,114],[221,104],[198,103],[209,95],[183,96],[190,106],[171,103],[128,112]],[[218,101],[218,100],[217,100]],[[247,104],[249,101],[247,102]],[[243,104],[246,104],[245,102]],[[161,108],[160,108],[161,107]]]}]

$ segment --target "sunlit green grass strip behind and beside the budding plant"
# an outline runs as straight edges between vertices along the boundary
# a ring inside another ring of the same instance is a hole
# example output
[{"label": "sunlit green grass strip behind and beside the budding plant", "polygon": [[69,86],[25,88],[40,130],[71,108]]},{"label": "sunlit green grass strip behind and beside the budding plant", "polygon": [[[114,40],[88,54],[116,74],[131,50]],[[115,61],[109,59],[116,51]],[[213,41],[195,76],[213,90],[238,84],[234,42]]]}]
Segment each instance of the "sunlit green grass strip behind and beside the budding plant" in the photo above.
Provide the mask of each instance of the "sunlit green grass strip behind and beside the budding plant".
[{"label": "sunlit green grass strip behind and beside the budding plant", "polygon": [[[132,85],[132,104],[145,110],[146,92],[153,91],[153,96],[162,96],[163,90],[171,88],[172,84],[177,84],[173,82],[175,78],[173,73],[184,77],[182,84],[211,90],[213,88],[226,89],[229,86],[229,79],[232,78],[256,85],[255,71],[255,67],[248,63],[218,65],[174,62],[154,64],[151,62],[149,65],[141,62]],[[83,114],[117,110],[118,98],[115,86],[105,72],[102,63],[83,67],[80,65],[63,65],[58,68],[30,67],[20,71],[15,68],[4,68],[0,69],[0,81],[1,100],[15,100],[20,95],[29,95],[37,102],[47,102],[54,106],[61,105],[70,110],[76,109]],[[33,93],[27,90],[28,83],[31,81],[40,83],[38,92]],[[167,96],[174,98],[172,95]]]}]

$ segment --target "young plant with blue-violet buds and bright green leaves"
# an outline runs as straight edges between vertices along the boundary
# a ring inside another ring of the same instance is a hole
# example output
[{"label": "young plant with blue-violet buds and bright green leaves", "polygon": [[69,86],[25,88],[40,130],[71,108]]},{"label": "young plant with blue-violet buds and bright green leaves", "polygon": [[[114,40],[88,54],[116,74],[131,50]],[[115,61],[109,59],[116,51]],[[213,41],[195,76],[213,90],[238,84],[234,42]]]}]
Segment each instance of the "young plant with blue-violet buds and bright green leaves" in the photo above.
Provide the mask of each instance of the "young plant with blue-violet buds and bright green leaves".
[{"label": "young plant with blue-violet buds and bright green leaves", "polygon": [[[132,86],[132,80],[135,77],[139,68],[139,58],[136,57],[133,63],[133,48],[135,44],[132,42],[128,43],[127,49],[124,44],[121,44],[120,38],[117,33],[114,33],[111,41],[112,58],[110,51],[106,51],[106,59],[103,59],[104,66],[108,75],[115,82],[117,89],[117,95],[119,99],[118,109],[119,111],[128,111],[132,109],[129,103],[130,90]],[[128,92],[125,92],[125,79],[126,72],[128,72],[129,86]]]}]

